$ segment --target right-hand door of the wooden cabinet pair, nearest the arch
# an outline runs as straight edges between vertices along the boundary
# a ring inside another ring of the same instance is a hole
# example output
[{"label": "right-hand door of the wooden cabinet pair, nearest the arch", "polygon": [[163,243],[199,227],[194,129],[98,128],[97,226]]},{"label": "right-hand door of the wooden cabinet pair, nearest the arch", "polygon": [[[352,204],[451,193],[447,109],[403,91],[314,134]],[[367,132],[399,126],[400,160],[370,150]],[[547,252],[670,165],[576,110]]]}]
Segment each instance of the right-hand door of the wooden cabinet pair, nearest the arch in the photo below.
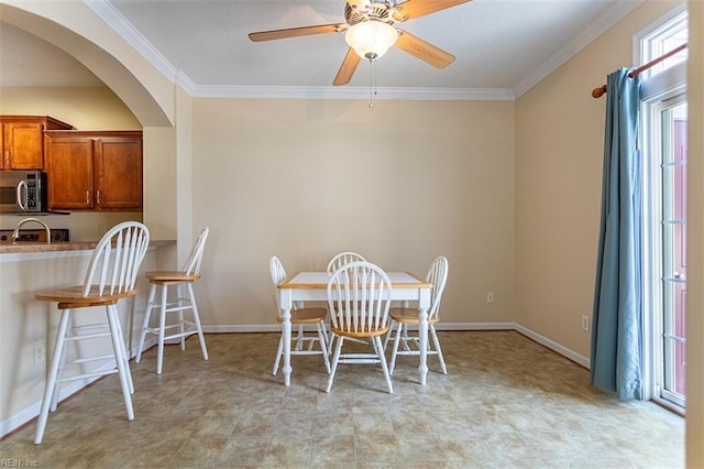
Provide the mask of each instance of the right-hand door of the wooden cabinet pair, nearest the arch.
[{"label": "right-hand door of the wooden cabinet pair, nearest the arch", "polygon": [[95,140],[96,207],[102,210],[142,209],[142,139],[110,137]]}]

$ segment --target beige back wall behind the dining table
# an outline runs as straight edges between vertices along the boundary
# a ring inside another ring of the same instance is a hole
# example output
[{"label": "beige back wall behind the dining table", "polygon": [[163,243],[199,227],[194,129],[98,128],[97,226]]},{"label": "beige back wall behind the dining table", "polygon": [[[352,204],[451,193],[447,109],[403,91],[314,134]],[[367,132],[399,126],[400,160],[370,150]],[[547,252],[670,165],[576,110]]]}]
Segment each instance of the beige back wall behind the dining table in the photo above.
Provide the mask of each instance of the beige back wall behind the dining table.
[{"label": "beige back wall behind the dining table", "polygon": [[196,99],[206,323],[273,324],[270,257],[293,272],[342,250],[424,275],[447,255],[444,323],[512,321],[513,135],[506,101]]}]

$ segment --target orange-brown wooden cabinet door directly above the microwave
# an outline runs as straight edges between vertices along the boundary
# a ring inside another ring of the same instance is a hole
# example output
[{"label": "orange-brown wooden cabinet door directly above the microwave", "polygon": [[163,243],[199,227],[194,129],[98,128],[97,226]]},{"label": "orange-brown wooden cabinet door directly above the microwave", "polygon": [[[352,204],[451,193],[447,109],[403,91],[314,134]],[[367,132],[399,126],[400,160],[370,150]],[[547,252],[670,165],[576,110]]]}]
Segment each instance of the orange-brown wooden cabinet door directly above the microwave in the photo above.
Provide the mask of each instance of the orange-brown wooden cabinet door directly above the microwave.
[{"label": "orange-brown wooden cabinet door directly above the microwave", "polygon": [[43,170],[43,131],[40,122],[6,122],[2,126],[3,168]]}]

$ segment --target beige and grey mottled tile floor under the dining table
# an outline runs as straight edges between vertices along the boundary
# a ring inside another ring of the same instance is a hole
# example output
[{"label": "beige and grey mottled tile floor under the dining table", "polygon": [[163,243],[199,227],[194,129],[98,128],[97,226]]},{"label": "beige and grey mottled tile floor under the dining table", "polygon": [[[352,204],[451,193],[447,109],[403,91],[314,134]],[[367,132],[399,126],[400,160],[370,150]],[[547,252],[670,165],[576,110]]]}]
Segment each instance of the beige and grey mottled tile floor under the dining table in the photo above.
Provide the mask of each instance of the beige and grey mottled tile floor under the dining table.
[{"label": "beige and grey mottled tile floor under the dining table", "polygon": [[[330,394],[319,356],[293,357],[292,386],[272,377],[275,334],[208,335],[186,352],[132,363],[135,419],[106,378],[0,441],[23,467],[682,468],[684,419],[619,402],[588,372],[514,331],[440,332],[448,375],[428,384],[402,357],[394,394],[380,368],[341,364]],[[6,463],[7,466],[7,463]]]}]

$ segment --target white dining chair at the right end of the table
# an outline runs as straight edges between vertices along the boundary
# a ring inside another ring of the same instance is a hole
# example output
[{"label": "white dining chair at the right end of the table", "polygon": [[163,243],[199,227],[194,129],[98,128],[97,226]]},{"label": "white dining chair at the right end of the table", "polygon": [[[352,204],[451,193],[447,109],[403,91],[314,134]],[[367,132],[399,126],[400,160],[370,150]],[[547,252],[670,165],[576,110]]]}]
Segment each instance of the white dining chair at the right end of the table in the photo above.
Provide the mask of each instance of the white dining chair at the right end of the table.
[{"label": "white dining chair at the right end of the table", "polygon": [[[430,308],[428,309],[428,330],[430,337],[432,337],[432,346],[428,340],[428,355],[438,356],[440,360],[440,368],[442,373],[448,374],[448,369],[444,364],[444,358],[442,357],[442,349],[440,348],[440,340],[436,331],[436,324],[440,320],[440,299],[442,298],[442,292],[448,281],[448,259],[440,255],[432,261],[426,281],[432,284],[430,291]],[[394,374],[396,368],[396,357],[399,355],[420,355],[419,338],[417,334],[411,336],[408,334],[408,326],[415,326],[417,332],[417,326],[420,323],[418,319],[417,308],[392,308],[389,312],[392,318],[392,326],[388,329],[388,334],[384,340],[384,349],[388,345],[391,335],[395,331],[394,349],[392,350],[392,358],[389,360],[389,372]],[[399,345],[403,343],[403,348],[399,350]]]}]

